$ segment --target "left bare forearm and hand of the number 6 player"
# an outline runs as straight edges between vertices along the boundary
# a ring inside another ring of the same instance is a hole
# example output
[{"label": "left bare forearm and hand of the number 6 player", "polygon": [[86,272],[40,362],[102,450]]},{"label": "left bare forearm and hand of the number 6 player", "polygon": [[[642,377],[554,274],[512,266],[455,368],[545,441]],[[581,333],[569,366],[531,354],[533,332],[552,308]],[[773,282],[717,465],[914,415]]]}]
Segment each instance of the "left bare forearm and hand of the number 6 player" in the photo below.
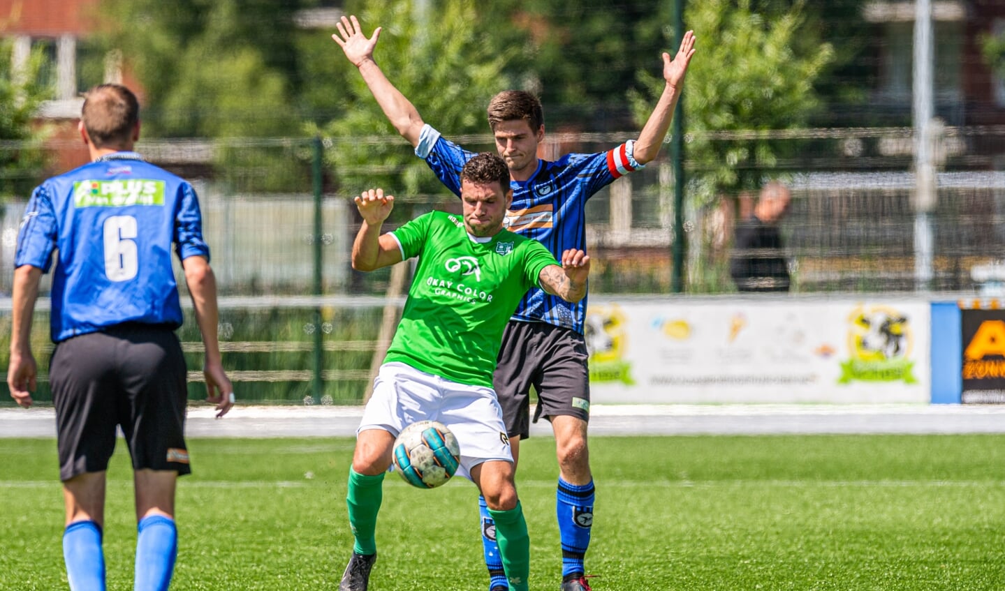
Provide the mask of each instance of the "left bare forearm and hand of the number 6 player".
[{"label": "left bare forearm and hand of the number 6 player", "polygon": [[31,318],[38,299],[38,283],[42,270],[31,265],[21,265],[14,270],[11,294],[10,364],[7,366],[7,385],[14,400],[27,408],[31,406],[31,392],[35,389],[35,356],[31,353]]}]

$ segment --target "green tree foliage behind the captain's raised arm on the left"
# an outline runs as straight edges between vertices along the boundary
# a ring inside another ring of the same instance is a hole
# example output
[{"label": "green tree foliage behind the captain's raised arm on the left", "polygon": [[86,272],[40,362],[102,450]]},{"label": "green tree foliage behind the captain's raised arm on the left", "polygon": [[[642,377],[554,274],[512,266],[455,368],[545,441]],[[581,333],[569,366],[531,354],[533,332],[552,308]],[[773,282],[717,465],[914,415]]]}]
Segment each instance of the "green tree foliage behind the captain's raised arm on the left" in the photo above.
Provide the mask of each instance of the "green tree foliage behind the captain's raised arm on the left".
[{"label": "green tree foliage behind the captain's raised arm on the left", "polygon": [[[504,71],[517,50],[498,44],[494,28],[479,19],[476,3],[444,0],[426,14],[417,12],[422,4],[417,1],[362,4],[350,3],[346,12],[359,16],[367,36],[383,27],[374,60],[426,122],[449,136],[487,134],[485,106],[511,86]],[[383,186],[405,195],[444,193],[408,142],[398,137],[335,41],[328,55],[346,72],[345,86],[332,97],[342,113],[323,127],[336,143],[327,156],[340,184],[354,192]]]}]

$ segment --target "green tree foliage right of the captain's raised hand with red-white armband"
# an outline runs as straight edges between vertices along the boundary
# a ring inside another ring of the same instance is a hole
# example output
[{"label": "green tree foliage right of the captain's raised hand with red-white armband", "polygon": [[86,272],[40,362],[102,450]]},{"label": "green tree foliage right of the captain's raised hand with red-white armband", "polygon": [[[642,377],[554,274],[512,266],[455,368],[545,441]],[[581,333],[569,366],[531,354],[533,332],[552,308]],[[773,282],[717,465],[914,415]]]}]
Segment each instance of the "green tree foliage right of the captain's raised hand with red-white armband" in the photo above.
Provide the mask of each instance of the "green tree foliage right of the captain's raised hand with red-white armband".
[{"label": "green tree foliage right of the captain's raised hand with red-white armband", "polygon": [[[688,5],[685,23],[697,37],[683,92],[687,199],[693,207],[712,203],[722,192],[759,188],[765,172],[787,156],[784,143],[756,134],[717,140],[712,132],[799,128],[818,108],[813,84],[833,50],[829,43],[803,38],[802,15],[803,2],[769,15],[749,0]],[[675,42],[669,45],[675,48]],[[664,81],[647,72],[640,78],[649,89],[632,93],[641,122]]]}]

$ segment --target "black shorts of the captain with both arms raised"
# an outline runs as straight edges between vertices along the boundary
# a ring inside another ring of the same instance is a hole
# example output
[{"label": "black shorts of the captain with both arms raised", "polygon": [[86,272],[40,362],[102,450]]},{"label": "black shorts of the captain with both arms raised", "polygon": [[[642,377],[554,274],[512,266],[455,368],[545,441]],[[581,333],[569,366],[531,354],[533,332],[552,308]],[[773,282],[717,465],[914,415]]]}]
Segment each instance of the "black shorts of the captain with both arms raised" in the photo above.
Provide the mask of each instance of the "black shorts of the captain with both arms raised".
[{"label": "black shorts of the captain with both arms raised", "polygon": [[531,434],[531,386],[538,392],[534,421],[544,415],[590,419],[586,341],[575,330],[547,322],[511,320],[502,332],[492,383],[507,434]]}]

